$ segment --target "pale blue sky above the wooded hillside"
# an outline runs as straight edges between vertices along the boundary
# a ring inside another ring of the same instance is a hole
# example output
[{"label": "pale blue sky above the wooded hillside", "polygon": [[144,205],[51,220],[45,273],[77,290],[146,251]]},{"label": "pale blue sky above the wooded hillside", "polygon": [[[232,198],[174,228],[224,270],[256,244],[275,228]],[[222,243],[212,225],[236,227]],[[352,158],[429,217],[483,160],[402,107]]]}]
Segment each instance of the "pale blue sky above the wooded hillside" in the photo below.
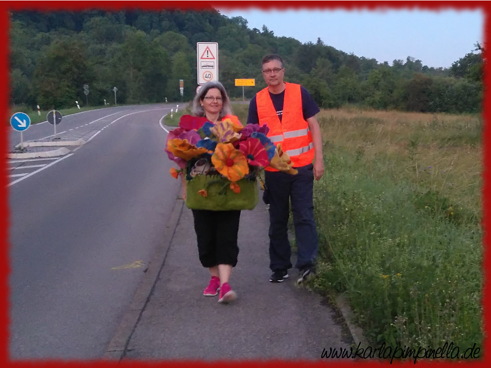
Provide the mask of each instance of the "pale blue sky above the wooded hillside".
[{"label": "pale blue sky above the wooded hillside", "polygon": [[[452,63],[474,51],[484,40],[483,10],[342,10],[216,7],[231,18],[241,16],[248,28],[262,30],[266,25],[277,37],[301,43],[317,41],[358,57],[374,58],[379,63],[421,60],[423,65],[449,68]],[[219,47],[220,45],[218,45]]]}]

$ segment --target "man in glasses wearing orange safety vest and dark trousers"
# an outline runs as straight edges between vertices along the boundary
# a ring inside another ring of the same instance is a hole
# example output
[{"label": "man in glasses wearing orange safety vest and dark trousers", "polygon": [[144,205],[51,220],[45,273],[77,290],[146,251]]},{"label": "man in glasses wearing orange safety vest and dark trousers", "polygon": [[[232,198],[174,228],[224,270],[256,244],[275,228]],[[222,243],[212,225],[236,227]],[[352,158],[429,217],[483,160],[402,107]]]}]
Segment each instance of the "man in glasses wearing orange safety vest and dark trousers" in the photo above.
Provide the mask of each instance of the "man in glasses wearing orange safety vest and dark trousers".
[{"label": "man in glasses wearing orange safety vest and dark trousers", "polygon": [[[264,201],[270,213],[270,281],[288,277],[291,247],[288,240],[290,200],[297,242],[297,282],[316,275],[318,240],[314,220],[313,186],[324,174],[322,137],[315,115],[320,111],[308,91],[300,84],[283,81],[283,59],[275,54],[262,60],[263,78],[268,85],[250,101],[247,124],[267,124],[268,137],[291,158],[297,175],[266,168]],[[314,159],[315,158],[315,159]]]}]

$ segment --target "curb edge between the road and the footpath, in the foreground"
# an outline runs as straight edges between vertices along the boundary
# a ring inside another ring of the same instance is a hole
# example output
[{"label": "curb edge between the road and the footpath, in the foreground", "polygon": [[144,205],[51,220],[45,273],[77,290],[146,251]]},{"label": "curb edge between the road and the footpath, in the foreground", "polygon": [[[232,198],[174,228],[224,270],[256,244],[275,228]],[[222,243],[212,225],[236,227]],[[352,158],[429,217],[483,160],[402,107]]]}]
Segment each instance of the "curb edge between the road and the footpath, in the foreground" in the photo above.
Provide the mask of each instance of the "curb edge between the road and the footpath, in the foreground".
[{"label": "curb edge between the road and the footpath, in the foreground", "polygon": [[167,257],[183,208],[184,201],[177,200],[165,227],[162,243],[148,264],[148,268],[145,270],[145,275],[136,289],[133,300],[116,328],[116,332],[109,342],[102,359],[117,361],[123,359],[126,347],[155,288],[160,272],[164,267],[165,258]]}]

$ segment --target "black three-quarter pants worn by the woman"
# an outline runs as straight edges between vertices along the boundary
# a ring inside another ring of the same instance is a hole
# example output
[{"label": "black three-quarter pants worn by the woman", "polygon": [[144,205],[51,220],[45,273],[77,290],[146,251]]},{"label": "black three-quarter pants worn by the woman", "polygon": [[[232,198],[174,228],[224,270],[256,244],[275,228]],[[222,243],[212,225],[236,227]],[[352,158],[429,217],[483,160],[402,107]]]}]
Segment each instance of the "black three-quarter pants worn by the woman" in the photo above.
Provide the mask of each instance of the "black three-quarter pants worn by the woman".
[{"label": "black three-quarter pants worn by the woman", "polygon": [[235,267],[239,255],[237,234],[241,211],[192,210],[198,240],[199,262],[203,267],[230,264]]}]

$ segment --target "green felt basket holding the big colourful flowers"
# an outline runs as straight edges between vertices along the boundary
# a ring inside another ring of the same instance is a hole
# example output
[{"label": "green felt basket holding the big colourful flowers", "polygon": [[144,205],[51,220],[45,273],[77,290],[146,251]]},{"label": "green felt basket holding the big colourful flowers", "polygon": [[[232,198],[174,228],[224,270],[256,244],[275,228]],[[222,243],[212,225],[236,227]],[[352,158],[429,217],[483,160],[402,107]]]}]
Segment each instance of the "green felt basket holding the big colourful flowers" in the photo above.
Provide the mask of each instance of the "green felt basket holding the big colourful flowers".
[{"label": "green felt basket holding the big colourful flowers", "polygon": [[[237,182],[240,193],[230,189],[230,181],[219,175],[196,175],[187,182],[186,206],[191,210],[253,210],[259,200],[256,180],[241,179]],[[207,196],[198,191],[205,189]]]}]

